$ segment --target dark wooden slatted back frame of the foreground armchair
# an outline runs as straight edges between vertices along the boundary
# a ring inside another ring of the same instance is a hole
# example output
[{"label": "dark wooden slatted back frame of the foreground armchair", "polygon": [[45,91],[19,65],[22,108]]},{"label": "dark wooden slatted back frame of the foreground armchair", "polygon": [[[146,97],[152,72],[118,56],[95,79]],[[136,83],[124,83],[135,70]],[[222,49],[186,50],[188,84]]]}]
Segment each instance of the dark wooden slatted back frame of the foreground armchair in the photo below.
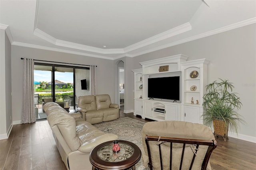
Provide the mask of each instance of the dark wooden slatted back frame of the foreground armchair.
[{"label": "dark wooden slatted back frame of the foreground armchair", "polygon": [[[210,155],[212,154],[212,151],[217,147],[216,140],[198,140],[198,139],[171,138],[171,137],[160,137],[160,136],[148,136],[148,135],[146,135],[145,141],[146,141],[146,146],[147,146],[147,150],[148,150],[148,160],[149,160],[148,166],[149,166],[150,170],[153,170],[153,165],[152,165],[152,158],[151,158],[150,142],[149,141],[158,142],[161,170],[163,170],[163,160],[162,160],[162,152],[161,152],[162,142],[170,143],[170,170],[172,170],[173,143],[183,144],[182,155],[181,155],[181,158],[180,158],[180,168],[179,168],[180,170],[182,170],[182,163],[183,163],[183,159],[184,159],[186,144],[196,145],[196,149],[194,150],[194,155],[193,155],[193,158],[192,158],[192,161],[191,161],[191,164],[190,164],[190,168],[189,168],[190,170],[192,169],[192,166],[193,166],[194,160],[195,160],[195,156],[196,156],[196,153],[197,153],[198,148],[199,148],[200,145],[208,146],[208,150],[207,150],[207,152],[204,156],[204,160],[202,162],[201,170],[206,170],[206,166],[207,166],[208,161],[210,159]],[[156,153],[154,153],[154,154],[156,154]]]}]

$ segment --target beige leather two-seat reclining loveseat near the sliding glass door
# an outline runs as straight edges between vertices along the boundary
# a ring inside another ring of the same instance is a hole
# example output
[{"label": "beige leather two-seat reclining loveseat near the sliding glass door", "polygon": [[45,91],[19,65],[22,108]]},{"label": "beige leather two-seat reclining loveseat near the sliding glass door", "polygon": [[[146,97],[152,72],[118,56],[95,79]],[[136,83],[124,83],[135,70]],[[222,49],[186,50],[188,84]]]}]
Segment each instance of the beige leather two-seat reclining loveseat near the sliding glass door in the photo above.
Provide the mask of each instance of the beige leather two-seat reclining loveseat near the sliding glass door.
[{"label": "beige leather two-seat reclining loveseat near the sliding glass door", "polygon": [[119,118],[119,105],[112,104],[108,94],[79,96],[77,110],[91,124]]}]

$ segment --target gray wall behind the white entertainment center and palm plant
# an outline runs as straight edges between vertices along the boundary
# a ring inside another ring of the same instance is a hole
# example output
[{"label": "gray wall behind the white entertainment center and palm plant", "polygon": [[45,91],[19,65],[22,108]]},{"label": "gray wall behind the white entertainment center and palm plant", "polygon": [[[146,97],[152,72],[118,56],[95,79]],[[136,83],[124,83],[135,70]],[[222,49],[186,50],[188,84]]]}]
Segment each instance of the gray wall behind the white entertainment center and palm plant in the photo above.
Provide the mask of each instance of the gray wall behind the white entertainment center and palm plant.
[{"label": "gray wall behind the white entertainment center and palm plant", "polygon": [[[206,58],[207,82],[218,78],[234,83],[243,104],[239,113],[247,122],[238,132],[243,138],[256,137],[256,24],[172,46],[133,58],[132,69],[142,68],[139,62],[184,54],[188,60]],[[129,70],[126,70],[129,72]],[[127,84],[127,83],[126,83]],[[127,84],[128,85],[128,84]],[[129,86],[133,86],[133,81]],[[132,98],[129,98],[132,100]],[[237,137],[237,136],[236,136]]]}]

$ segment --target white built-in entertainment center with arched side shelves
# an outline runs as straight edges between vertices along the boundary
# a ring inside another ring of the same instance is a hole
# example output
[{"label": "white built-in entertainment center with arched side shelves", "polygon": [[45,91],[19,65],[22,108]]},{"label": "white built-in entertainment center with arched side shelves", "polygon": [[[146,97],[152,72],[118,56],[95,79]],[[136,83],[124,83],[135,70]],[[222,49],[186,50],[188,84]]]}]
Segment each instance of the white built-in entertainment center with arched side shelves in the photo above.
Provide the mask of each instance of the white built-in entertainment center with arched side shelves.
[{"label": "white built-in entertainment center with arched side shelves", "polygon": [[[203,123],[200,116],[203,114],[202,102],[209,61],[206,59],[187,61],[187,59],[188,56],[179,54],[140,62],[142,68],[132,70],[134,72],[134,115],[157,121],[180,120]],[[174,88],[172,85],[177,83],[170,82],[172,79],[168,78],[172,77],[179,77],[179,96],[172,94],[177,92],[177,90],[172,91]],[[160,81],[162,84],[160,86],[148,84],[152,80],[157,81],[158,78],[166,78],[169,82]],[[153,92],[152,86],[156,86]],[[164,96],[164,99],[149,98],[148,87],[150,87],[151,97],[152,95]],[[163,95],[158,95],[158,92]],[[168,95],[170,99],[166,99],[169,98]],[[172,100],[172,98],[178,100]]]}]

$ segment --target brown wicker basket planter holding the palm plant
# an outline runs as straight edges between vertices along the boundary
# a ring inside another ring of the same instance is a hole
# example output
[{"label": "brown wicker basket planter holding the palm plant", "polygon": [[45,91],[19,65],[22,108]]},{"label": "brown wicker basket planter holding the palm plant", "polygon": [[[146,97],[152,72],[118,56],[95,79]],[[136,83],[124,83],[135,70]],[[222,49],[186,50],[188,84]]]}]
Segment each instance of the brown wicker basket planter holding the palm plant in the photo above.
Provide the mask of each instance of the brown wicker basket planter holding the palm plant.
[{"label": "brown wicker basket planter holding the palm plant", "polygon": [[222,136],[224,141],[228,139],[228,126],[223,120],[213,120],[214,136]]}]

